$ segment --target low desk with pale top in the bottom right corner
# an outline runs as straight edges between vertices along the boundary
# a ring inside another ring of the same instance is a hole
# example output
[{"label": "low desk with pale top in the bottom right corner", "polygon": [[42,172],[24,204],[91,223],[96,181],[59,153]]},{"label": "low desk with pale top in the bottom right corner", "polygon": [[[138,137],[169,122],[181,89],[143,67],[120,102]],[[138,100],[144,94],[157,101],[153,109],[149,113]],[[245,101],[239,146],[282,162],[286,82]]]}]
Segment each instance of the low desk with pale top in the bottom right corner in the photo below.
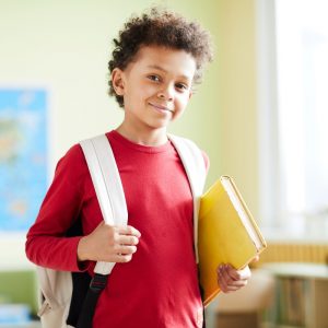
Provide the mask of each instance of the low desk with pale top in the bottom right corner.
[{"label": "low desk with pale top in the bottom right corner", "polygon": [[328,267],[314,263],[267,263],[277,279],[273,317],[279,328],[328,328]]}]

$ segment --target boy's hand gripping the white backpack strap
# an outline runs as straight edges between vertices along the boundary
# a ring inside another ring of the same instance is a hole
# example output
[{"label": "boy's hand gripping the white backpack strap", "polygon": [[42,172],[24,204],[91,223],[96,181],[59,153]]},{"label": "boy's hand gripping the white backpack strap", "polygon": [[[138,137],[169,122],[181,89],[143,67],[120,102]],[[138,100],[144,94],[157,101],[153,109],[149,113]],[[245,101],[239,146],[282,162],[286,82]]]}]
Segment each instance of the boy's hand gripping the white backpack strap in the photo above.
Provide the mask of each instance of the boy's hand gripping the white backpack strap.
[{"label": "boy's hand gripping the white backpack strap", "polygon": [[78,245],[78,260],[128,262],[137,251],[141,234],[134,227],[110,226],[102,222]]}]

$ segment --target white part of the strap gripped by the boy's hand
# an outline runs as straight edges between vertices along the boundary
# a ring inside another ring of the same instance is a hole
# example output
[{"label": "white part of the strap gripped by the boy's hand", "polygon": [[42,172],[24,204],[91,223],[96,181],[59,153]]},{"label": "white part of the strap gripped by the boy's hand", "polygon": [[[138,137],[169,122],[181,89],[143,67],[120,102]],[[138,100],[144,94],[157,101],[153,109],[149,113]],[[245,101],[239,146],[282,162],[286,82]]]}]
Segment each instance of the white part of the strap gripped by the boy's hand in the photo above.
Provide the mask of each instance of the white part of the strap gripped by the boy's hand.
[{"label": "white part of the strap gripped by the boy's hand", "polygon": [[[105,134],[80,142],[95,188],[104,221],[127,225],[128,210],[116,161]],[[98,261],[94,272],[109,274],[115,262]]]}]

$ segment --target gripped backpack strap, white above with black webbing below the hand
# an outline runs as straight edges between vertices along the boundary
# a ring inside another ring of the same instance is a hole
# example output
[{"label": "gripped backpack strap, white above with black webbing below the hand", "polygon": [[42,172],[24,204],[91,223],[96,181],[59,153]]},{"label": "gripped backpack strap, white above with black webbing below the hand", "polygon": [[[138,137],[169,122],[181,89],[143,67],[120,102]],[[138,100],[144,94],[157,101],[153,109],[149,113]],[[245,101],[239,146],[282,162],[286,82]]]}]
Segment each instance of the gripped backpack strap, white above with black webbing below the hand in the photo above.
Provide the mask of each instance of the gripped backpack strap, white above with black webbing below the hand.
[{"label": "gripped backpack strap, white above with black webbing below the hand", "polygon": [[[105,134],[80,142],[95,188],[103,219],[109,225],[127,225],[126,198],[112,151]],[[91,328],[95,307],[105,289],[115,262],[97,261],[94,277],[84,298],[77,328]]]}]

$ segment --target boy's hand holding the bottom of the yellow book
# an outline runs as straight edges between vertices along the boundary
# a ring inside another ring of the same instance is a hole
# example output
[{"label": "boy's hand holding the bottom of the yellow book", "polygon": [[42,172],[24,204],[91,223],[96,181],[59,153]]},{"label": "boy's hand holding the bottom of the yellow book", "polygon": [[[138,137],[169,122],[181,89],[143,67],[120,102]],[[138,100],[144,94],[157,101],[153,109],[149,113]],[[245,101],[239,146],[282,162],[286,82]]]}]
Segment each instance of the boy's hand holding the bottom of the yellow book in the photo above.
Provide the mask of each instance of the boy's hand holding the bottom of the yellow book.
[{"label": "boy's hand holding the bottom of the yellow book", "polygon": [[223,293],[234,292],[245,286],[250,276],[248,266],[236,270],[230,265],[222,265],[218,268],[218,284]]}]

